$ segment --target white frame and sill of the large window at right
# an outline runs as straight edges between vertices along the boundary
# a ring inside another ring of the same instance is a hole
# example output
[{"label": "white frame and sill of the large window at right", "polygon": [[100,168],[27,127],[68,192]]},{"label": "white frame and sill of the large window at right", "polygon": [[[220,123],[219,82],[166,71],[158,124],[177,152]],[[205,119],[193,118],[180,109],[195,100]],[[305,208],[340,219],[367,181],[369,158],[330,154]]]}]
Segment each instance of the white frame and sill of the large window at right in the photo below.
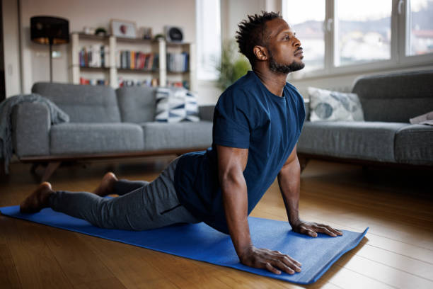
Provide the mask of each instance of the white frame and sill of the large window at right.
[{"label": "white frame and sill of the large window at right", "polygon": [[[283,15],[284,11],[287,11],[289,1],[291,0],[282,0]],[[336,21],[337,1],[344,0],[325,0],[325,21],[323,23],[325,32],[324,68],[306,72],[302,75],[289,74],[289,79],[316,79],[324,76],[331,77],[345,74],[359,74],[387,69],[408,69],[433,64],[433,52],[425,55],[406,55],[409,45],[408,38],[410,37],[410,23],[406,16],[410,13],[410,0],[392,0],[391,58],[389,60],[336,66],[335,60],[338,57],[338,39],[336,37],[338,26],[338,22]],[[330,23],[330,25],[328,25],[328,23]],[[330,26],[330,29],[328,29],[328,26]]]}]

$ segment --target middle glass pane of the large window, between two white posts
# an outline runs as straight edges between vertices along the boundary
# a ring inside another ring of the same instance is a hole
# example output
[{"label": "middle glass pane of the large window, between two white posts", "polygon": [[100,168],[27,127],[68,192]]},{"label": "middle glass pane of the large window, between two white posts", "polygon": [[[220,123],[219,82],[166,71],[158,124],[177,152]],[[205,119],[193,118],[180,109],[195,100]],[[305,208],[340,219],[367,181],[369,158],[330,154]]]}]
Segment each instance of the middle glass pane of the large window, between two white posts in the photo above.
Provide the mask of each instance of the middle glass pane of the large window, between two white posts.
[{"label": "middle glass pane of the large window, between two white posts", "polygon": [[391,0],[337,1],[335,66],[389,60],[391,10]]}]

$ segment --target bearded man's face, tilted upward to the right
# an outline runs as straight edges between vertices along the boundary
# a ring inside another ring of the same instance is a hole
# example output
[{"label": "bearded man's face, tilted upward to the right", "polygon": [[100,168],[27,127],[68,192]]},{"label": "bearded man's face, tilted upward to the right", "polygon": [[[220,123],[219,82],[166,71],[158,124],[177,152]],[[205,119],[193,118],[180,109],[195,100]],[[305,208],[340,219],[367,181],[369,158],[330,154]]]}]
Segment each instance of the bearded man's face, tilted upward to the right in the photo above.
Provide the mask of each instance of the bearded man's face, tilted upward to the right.
[{"label": "bearded man's face, tilted upward to the right", "polygon": [[304,68],[301,42],[286,21],[281,18],[267,21],[266,35],[271,71],[287,74]]}]

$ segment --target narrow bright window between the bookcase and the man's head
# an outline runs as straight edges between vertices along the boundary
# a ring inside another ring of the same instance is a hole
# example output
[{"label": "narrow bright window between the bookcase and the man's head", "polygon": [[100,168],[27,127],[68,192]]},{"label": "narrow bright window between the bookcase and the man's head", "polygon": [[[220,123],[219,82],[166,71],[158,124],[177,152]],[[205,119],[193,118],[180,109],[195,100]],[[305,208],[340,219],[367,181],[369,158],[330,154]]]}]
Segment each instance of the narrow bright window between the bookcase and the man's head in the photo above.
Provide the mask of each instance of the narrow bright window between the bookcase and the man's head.
[{"label": "narrow bright window between the bookcase and the man's head", "polygon": [[219,0],[196,0],[197,79],[218,78],[221,56],[221,15]]}]

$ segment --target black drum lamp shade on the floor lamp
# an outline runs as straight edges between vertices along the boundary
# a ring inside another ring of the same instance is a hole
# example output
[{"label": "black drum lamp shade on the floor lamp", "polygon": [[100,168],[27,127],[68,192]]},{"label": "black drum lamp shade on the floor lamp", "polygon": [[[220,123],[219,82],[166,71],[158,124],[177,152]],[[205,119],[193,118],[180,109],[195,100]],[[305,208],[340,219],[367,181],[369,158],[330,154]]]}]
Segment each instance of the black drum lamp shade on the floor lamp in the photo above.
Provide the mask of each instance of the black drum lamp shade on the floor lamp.
[{"label": "black drum lamp shade on the floor lamp", "polygon": [[30,39],[46,45],[68,43],[69,21],[50,16],[33,16],[30,18]]}]

